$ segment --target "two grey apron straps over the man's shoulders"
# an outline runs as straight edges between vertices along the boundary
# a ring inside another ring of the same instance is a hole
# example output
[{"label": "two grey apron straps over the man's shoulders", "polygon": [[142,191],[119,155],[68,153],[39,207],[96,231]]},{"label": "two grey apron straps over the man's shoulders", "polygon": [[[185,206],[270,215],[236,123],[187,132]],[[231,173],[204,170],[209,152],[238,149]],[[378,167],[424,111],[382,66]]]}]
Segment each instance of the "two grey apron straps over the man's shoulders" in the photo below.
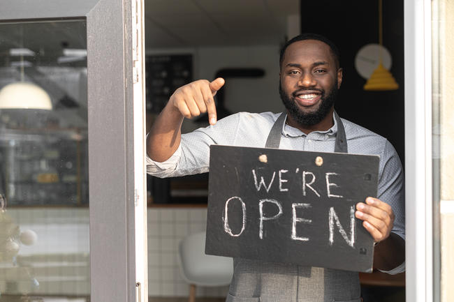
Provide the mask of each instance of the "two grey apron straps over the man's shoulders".
[{"label": "two grey apron straps over the man's shoulders", "polygon": [[[334,112],[334,116],[337,123],[337,135],[336,135],[336,142],[335,142],[335,152],[339,153],[348,153],[349,149],[347,147],[347,139],[345,135],[345,128],[342,120],[337,115],[337,112]],[[274,122],[270,130],[270,134],[266,139],[265,148],[274,148],[279,149],[279,144],[281,144],[281,133],[282,127],[284,127],[284,121],[286,119],[286,114],[284,112],[279,115],[277,120]]]}]

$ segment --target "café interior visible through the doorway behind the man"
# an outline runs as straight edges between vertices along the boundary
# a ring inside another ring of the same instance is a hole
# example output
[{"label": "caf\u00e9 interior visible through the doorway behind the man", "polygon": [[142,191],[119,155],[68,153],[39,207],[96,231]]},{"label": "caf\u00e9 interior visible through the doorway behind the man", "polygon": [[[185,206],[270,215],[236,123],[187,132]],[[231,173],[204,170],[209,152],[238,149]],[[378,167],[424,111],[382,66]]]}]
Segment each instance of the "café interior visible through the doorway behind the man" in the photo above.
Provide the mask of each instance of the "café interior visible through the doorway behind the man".
[{"label": "caf\u00e9 interior visible through the doorway behind the man", "polygon": [[[238,6],[242,6],[241,11],[237,10]],[[339,115],[386,137],[403,163],[403,2],[384,1],[382,9],[383,40],[380,43],[379,1],[226,1],[215,4],[188,1],[181,11],[168,1],[149,1],[145,13],[147,123],[153,122],[161,104],[178,86],[191,80],[214,80],[218,76],[226,79],[224,93],[218,96],[219,114],[281,112],[284,107],[277,89],[279,49],[285,40],[300,32],[315,32],[331,38],[341,50],[344,82],[335,105]],[[352,13],[355,13],[354,18],[347,17]],[[379,50],[372,49],[380,44],[386,48],[386,68],[398,88],[366,91],[364,86],[374,68],[367,72],[365,69],[374,64]],[[192,57],[192,66],[188,56]],[[172,67],[171,63],[154,66],[149,63],[158,60],[175,60],[175,64]],[[159,81],[163,73],[170,75],[183,65],[191,70],[187,73],[191,76],[178,77],[177,84],[171,88],[170,79]],[[158,66],[166,70],[163,72]],[[256,69],[262,70],[260,76],[254,76]],[[159,84],[164,88],[160,89]],[[161,92],[154,96],[154,89]],[[165,95],[163,101],[162,95]],[[206,126],[207,118],[185,120],[182,131]],[[176,301],[176,297],[185,301],[189,294],[179,266],[178,247],[189,234],[205,230],[207,179],[204,174],[172,179],[149,176],[147,179],[151,301]],[[364,301],[404,301],[404,274],[391,276],[377,271],[372,275],[362,273],[361,278]],[[226,286],[197,287],[196,296],[222,299],[227,290]]]}]

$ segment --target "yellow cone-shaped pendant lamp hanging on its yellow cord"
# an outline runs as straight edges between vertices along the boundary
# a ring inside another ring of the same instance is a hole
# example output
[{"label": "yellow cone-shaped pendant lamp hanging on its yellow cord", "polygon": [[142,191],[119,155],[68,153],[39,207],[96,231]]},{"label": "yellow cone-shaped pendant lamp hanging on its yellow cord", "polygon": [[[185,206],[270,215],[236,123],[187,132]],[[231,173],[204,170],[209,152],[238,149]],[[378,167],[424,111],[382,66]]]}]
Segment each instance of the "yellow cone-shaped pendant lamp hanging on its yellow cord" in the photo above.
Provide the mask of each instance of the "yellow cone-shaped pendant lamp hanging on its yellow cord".
[{"label": "yellow cone-shaped pendant lamp hanging on its yellow cord", "polygon": [[[379,0],[379,43],[383,46],[383,0]],[[386,91],[396,90],[399,84],[388,69],[383,66],[382,55],[380,50],[379,66],[374,70],[374,73],[369,77],[366,84],[363,86],[367,91]]]}]

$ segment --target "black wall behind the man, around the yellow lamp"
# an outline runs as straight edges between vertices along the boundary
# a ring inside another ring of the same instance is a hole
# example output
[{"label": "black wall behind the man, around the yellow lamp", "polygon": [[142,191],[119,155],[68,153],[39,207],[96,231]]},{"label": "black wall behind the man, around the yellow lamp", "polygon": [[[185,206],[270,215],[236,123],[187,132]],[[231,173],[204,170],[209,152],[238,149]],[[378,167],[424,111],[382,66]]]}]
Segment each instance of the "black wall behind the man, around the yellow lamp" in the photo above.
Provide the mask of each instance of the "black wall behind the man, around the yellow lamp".
[{"label": "black wall behind the man, around the yellow lamp", "polygon": [[390,51],[396,91],[365,91],[354,62],[358,50],[379,43],[379,1],[301,1],[301,31],[321,33],[341,52],[344,80],[335,105],[344,119],[386,137],[404,162],[404,1],[383,1],[383,45]]}]

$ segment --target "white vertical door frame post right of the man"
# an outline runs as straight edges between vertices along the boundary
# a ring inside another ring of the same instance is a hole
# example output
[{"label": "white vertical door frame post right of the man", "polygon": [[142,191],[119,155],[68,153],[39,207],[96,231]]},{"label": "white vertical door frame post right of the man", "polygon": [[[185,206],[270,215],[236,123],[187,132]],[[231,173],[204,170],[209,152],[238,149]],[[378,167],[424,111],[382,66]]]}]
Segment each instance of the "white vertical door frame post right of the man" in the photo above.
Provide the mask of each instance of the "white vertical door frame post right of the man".
[{"label": "white vertical door frame post right of the man", "polygon": [[433,301],[432,16],[404,0],[407,302]]}]

